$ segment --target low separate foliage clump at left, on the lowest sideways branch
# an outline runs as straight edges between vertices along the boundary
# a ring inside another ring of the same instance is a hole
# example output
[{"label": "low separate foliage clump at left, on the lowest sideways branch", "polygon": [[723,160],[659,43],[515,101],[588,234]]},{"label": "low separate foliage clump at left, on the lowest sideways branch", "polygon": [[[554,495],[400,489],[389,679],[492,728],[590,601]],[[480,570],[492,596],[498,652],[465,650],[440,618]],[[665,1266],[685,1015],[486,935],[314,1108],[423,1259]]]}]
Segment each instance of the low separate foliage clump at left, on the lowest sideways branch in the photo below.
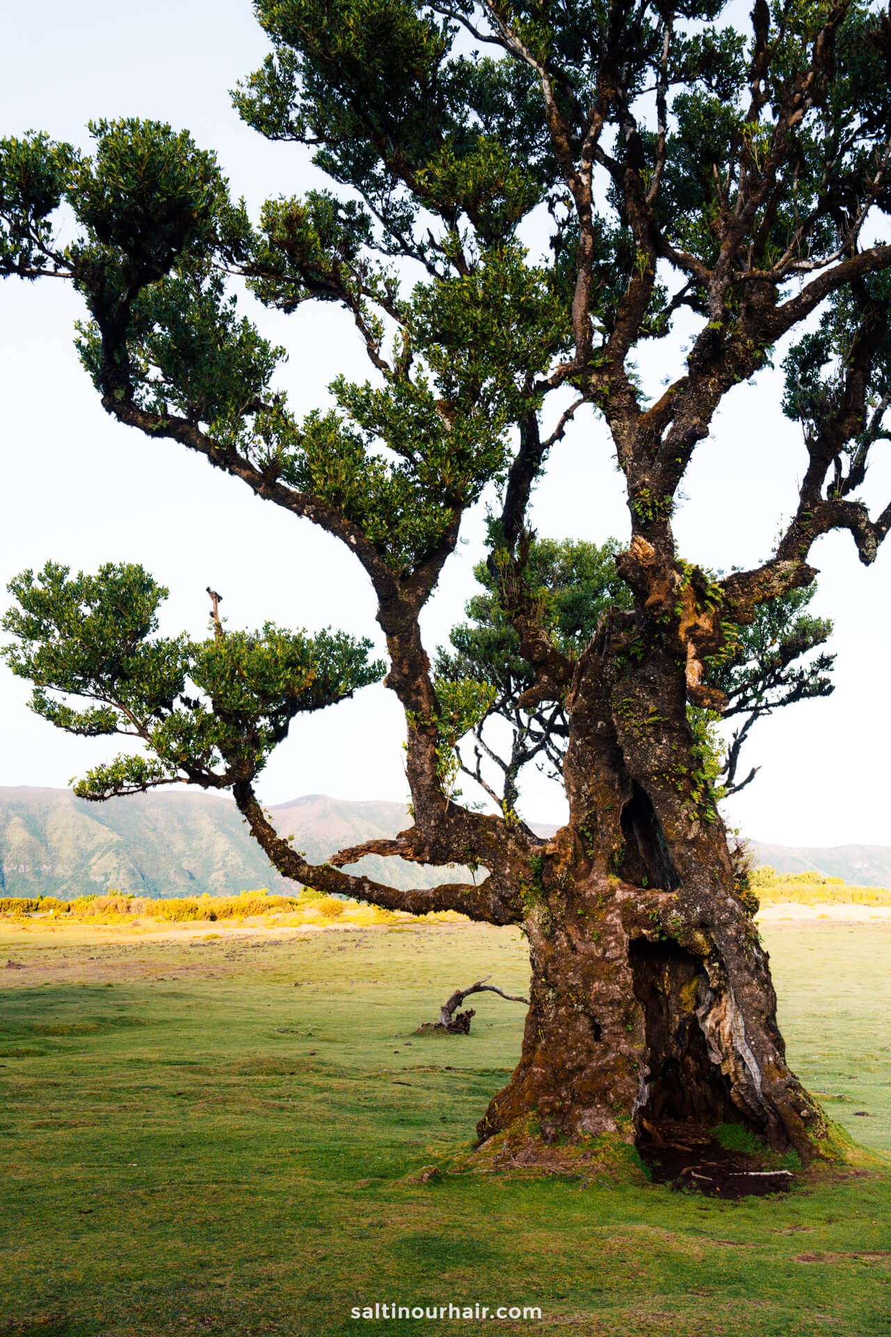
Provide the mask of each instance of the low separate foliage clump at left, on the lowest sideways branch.
[{"label": "low separate foliage clump at left, on the lowest sideways branch", "polygon": [[[75,734],[124,734],[150,755],[120,755],[75,786],[104,798],[190,779],[222,789],[252,778],[295,715],[321,710],[377,681],[370,642],[317,636],[267,623],[203,642],[156,635],[167,591],[142,567],[107,564],[96,576],[48,563],[9,584],[15,638],[3,654],[35,689],[31,707]],[[69,701],[88,705],[71,705]]]}]

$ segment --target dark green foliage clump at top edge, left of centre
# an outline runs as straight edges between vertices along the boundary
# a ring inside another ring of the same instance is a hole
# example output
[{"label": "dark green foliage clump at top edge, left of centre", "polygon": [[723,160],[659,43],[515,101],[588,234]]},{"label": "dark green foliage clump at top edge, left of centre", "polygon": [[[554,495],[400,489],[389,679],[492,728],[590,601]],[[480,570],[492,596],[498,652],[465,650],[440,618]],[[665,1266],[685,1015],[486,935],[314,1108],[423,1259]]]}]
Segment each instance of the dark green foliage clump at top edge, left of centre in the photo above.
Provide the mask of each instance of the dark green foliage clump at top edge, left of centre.
[{"label": "dark green foliage clump at top edge, left of centre", "polygon": [[[506,239],[542,198],[553,156],[530,71],[454,52],[454,25],[402,0],[289,0],[256,12],[274,53],[235,92],[271,139],[313,143],[403,250],[421,209],[458,239]],[[434,258],[434,238],[413,238]]]}]

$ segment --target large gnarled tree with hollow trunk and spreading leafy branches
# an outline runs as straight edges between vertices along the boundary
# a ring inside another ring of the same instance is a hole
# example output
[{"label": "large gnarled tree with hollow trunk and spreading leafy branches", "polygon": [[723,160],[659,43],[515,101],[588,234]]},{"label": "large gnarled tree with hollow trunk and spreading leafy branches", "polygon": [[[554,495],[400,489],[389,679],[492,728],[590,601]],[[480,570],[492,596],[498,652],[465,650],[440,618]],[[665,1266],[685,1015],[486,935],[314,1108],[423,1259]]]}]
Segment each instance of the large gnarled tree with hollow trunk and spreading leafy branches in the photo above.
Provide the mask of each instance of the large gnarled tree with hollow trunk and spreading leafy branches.
[{"label": "large gnarled tree with hollow trunk and spreading leafy branches", "polygon": [[[333,662],[274,628],[164,642],[144,574],[96,587],[48,567],[17,584],[13,668],[61,727],[152,749],[80,793],[228,787],[285,876],[522,927],[522,1054],[482,1140],[506,1135],[534,1159],[562,1138],[643,1144],[733,1120],[810,1158],[827,1123],[785,1062],[687,707],[724,709],[729,628],[811,586],[822,535],[847,531],[870,564],[891,525],[891,505],[874,519],[860,496],[891,398],[888,20],[854,0],[755,0],[739,32],[719,0],[258,0],[256,13],[273,51],[236,106],[267,138],[310,144],[330,191],[271,199],[254,227],[187,134],[99,122],[92,158],[8,139],[0,267],[76,286],[80,356],[119,422],[354,552],[407,722],[413,825],[315,866],[258,802],[290,721],[371,673],[342,638]],[[238,316],[228,275],[281,312],[339,303],[371,380],[335,378],[335,406],[298,421],[274,381],[281,352]],[[671,349],[681,325],[685,368],[651,397],[635,350]],[[797,505],[768,560],[711,576],[677,551],[679,487],[719,405],[775,349],[807,455]],[[627,595],[582,647],[554,636],[529,575],[530,493],[574,417],[612,443],[632,529],[616,556]],[[437,691],[418,628],[486,488],[489,570],[534,675],[521,709],[566,718],[569,820],[549,841],[453,800],[454,745],[489,698]],[[120,620],[120,650],[84,656],[94,616]],[[486,873],[398,892],[343,872],[370,849]]]}]

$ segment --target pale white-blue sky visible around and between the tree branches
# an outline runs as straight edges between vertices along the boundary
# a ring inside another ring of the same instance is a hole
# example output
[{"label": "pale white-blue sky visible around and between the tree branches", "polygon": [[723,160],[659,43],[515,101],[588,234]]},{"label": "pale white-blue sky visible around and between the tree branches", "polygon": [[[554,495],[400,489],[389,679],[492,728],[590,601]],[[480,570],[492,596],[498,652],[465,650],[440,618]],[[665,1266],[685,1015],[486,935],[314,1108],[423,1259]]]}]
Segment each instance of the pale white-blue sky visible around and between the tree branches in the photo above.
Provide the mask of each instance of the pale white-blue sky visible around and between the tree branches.
[{"label": "pale white-blue sky visible around and between the tree branches", "polygon": [[[232,194],[256,215],[266,197],[321,183],[302,150],[266,143],[231,107],[228,90],[266,49],[246,0],[160,0],[148,9],[120,0],[79,7],[45,0],[39,21],[17,7],[4,20],[0,48],[0,136],[43,128],[88,148],[91,119],[168,120],[216,150]],[[13,575],[48,559],[84,571],[139,562],[170,587],[164,632],[203,634],[210,584],[222,592],[232,627],[338,626],[379,644],[371,588],[342,544],[252,497],[182,447],[148,443],[107,417],[73,352],[81,316],[63,282],[0,282],[0,604],[8,603]],[[351,325],[330,305],[287,318],[260,312],[258,324],[287,346],[283,385],[302,410],[325,404],[337,372],[367,374]],[[644,376],[665,370],[641,358]],[[723,570],[763,560],[792,511],[806,457],[799,431],[780,414],[780,384],[779,373],[765,373],[733,390],[697,451],[675,521],[688,560]],[[625,536],[618,484],[602,422],[580,416],[537,488],[537,531],[594,541]],[[886,447],[866,491],[874,513],[890,495]],[[430,651],[473,592],[481,536],[478,509],[466,517],[460,551],[425,612]],[[812,562],[820,570],[812,611],[835,620],[836,690],[757,726],[743,765],[761,770],[727,802],[725,816],[761,841],[891,844],[891,545],[864,568],[847,535],[830,535]],[[114,750],[114,739],[55,730],[27,710],[27,683],[1,666],[0,785],[63,786]],[[402,737],[393,695],[367,689],[295,723],[263,773],[262,798],[402,800]],[[476,797],[470,782],[465,797]],[[560,790],[530,774],[524,812],[558,821]]]}]

